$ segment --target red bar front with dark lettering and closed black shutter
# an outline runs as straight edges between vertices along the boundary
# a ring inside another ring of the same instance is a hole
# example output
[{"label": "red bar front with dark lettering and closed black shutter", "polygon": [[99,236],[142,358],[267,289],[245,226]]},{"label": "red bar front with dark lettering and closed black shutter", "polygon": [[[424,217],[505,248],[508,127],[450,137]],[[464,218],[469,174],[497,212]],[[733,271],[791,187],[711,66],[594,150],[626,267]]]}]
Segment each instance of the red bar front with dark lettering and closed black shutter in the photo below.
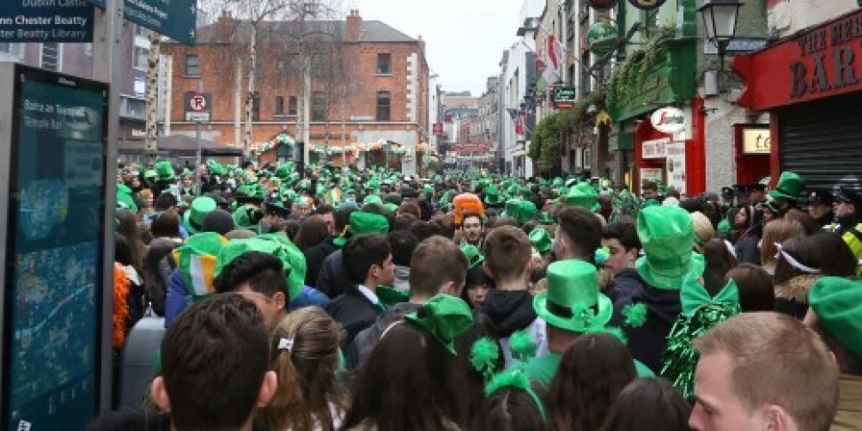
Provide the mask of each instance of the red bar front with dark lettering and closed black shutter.
[{"label": "red bar front with dark lettering and closed black shutter", "polygon": [[809,187],[858,187],[862,171],[862,10],[789,36],[731,67],[738,103],[770,113],[769,173],[797,172]]}]

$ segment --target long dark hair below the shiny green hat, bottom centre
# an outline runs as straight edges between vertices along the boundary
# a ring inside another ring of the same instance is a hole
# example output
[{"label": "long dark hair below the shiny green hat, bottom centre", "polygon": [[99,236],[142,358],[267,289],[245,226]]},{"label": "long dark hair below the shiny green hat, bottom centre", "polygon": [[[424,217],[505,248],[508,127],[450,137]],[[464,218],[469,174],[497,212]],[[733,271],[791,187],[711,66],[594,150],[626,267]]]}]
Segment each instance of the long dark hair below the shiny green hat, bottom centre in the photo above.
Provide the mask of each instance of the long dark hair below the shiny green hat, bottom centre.
[{"label": "long dark hair below the shiny green hat, bottom centre", "polygon": [[467,400],[461,386],[466,376],[459,358],[424,329],[394,324],[359,372],[342,429],[366,419],[380,431],[463,426]]}]

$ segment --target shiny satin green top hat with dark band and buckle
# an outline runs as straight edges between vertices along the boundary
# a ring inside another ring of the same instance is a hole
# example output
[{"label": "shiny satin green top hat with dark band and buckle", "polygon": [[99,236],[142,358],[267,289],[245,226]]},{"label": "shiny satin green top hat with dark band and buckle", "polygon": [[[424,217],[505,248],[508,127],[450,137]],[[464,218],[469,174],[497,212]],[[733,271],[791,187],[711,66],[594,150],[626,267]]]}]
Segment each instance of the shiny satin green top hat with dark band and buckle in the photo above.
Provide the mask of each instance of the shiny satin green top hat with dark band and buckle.
[{"label": "shiny satin green top hat with dark band and buckle", "polygon": [[533,299],[539,317],[571,332],[601,331],[613,315],[611,299],[599,292],[598,271],[583,260],[559,260],[547,267],[547,291]]}]

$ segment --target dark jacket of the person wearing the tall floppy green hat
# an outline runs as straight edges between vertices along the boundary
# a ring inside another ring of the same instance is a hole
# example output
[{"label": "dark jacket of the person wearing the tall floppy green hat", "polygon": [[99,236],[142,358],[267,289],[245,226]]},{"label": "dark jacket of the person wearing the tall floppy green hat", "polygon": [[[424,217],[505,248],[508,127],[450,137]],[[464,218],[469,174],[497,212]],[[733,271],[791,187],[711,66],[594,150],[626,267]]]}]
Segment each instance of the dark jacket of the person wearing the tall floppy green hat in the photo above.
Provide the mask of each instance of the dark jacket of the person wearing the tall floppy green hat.
[{"label": "dark jacket of the person wearing the tall floppy green hat", "polygon": [[[632,296],[614,303],[611,326],[623,328],[632,356],[658,374],[661,371],[661,355],[665,350],[667,334],[682,312],[680,291],[656,289],[643,282],[640,277],[639,280],[641,286]],[[647,307],[646,323],[637,328],[623,325],[626,320],[622,315],[623,307],[633,303]]]}]

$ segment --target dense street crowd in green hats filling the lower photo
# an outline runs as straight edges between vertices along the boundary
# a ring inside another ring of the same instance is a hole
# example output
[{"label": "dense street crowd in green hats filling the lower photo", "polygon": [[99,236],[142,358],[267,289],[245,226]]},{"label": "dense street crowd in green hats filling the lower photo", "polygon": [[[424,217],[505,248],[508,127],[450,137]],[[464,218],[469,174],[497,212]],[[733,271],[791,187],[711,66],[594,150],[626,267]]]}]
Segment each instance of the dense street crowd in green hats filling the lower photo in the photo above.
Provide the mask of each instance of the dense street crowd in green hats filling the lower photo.
[{"label": "dense street crowd in green hats filling the lower photo", "polygon": [[117,177],[116,363],[166,329],[140,408],[92,430],[862,429],[852,188]]}]

